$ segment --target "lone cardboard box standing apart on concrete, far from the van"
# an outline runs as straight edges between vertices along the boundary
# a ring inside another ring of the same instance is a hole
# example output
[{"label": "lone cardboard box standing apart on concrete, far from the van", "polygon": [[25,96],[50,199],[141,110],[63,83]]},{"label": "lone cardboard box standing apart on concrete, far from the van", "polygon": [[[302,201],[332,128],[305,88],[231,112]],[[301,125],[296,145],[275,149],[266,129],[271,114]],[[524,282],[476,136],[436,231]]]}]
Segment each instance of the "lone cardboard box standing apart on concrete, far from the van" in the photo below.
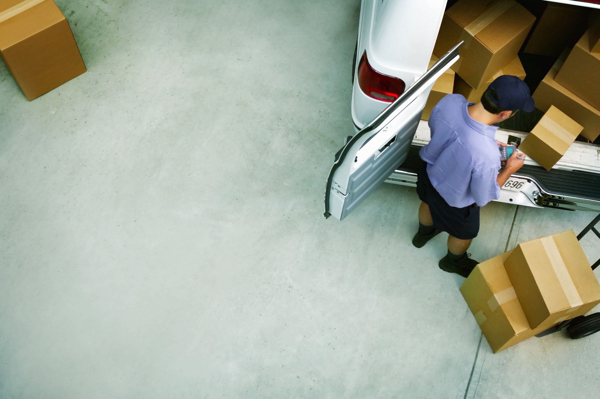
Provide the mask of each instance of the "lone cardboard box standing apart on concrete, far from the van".
[{"label": "lone cardboard box standing apart on concrete, far from the van", "polygon": [[29,101],[86,71],[52,0],[0,0],[0,57]]}]

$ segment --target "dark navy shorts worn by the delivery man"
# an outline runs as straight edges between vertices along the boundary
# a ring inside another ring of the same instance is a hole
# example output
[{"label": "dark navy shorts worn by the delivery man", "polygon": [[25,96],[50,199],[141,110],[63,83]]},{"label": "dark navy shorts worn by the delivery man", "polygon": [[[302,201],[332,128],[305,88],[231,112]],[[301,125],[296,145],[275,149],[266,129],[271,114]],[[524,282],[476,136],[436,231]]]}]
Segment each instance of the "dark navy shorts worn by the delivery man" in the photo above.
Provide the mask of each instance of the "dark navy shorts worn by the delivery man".
[{"label": "dark navy shorts worn by the delivery man", "polygon": [[422,202],[429,205],[433,225],[437,230],[460,239],[471,239],[479,233],[479,206],[472,204],[464,208],[455,208],[448,205],[431,185],[427,175],[427,162],[421,161],[416,193]]}]

